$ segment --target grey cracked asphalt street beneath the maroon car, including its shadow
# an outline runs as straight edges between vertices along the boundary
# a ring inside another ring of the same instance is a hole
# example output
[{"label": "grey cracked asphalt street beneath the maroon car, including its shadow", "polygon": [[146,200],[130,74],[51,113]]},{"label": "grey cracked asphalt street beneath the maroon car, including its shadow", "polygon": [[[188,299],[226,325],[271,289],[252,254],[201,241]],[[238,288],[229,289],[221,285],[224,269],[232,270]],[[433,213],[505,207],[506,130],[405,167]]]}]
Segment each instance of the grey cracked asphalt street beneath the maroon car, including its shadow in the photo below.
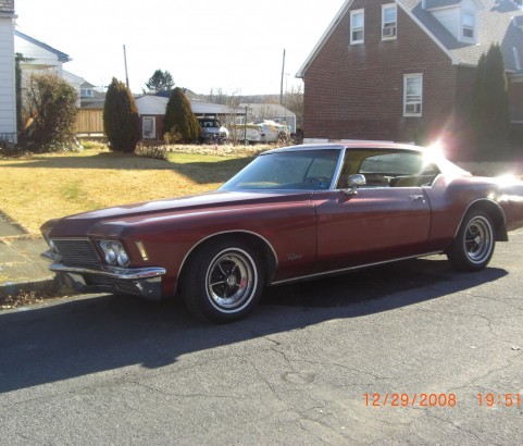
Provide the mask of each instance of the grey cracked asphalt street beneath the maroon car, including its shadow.
[{"label": "grey cracked asphalt street beneath the maroon car, including its shadow", "polygon": [[0,444],[521,444],[510,238],[480,273],[431,257],[270,288],[231,325],[128,296],[0,312]]}]

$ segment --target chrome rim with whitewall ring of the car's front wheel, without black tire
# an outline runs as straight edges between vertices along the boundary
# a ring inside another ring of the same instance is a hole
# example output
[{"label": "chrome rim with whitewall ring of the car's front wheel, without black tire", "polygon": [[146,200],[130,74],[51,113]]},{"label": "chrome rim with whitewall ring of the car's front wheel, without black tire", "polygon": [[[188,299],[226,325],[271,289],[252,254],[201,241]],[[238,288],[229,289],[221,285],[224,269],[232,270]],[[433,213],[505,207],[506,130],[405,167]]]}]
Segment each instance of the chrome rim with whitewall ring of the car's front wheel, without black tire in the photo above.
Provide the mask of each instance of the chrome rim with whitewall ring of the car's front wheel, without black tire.
[{"label": "chrome rim with whitewall ring of the car's front wheel, without black tire", "polygon": [[221,311],[239,311],[252,298],[257,273],[251,257],[242,250],[220,252],[206,275],[211,303]]}]

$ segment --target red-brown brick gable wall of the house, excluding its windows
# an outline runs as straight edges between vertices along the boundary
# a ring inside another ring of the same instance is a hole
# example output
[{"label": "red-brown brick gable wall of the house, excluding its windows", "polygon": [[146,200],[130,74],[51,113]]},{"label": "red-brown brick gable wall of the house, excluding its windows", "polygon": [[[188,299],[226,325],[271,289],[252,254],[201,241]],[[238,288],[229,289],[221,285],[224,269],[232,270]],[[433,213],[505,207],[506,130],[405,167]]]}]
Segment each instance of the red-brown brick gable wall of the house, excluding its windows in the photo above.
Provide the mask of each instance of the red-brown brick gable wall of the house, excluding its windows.
[{"label": "red-brown brick gable wall of the house, excluding its windows", "polygon": [[[463,121],[465,72],[398,5],[398,34],[382,40],[382,4],[357,0],[304,73],[304,136],[413,141]],[[350,11],[365,10],[365,41],[349,45]],[[422,116],[403,116],[403,75],[423,75]],[[466,88],[465,88],[466,90]]]}]

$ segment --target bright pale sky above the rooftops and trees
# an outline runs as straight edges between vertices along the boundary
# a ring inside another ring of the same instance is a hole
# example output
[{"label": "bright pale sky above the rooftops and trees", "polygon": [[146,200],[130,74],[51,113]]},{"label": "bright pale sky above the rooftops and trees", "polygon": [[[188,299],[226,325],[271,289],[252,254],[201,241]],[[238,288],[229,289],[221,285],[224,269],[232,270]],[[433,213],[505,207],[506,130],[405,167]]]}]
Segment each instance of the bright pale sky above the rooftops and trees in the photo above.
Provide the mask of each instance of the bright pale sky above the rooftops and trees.
[{"label": "bright pale sky above the rooftops and trees", "polygon": [[[70,54],[64,69],[94,85],[113,76],[140,92],[157,69],[198,94],[278,94],[344,0],[15,0],[17,28]],[[285,88],[285,87],[284,87]]]}]

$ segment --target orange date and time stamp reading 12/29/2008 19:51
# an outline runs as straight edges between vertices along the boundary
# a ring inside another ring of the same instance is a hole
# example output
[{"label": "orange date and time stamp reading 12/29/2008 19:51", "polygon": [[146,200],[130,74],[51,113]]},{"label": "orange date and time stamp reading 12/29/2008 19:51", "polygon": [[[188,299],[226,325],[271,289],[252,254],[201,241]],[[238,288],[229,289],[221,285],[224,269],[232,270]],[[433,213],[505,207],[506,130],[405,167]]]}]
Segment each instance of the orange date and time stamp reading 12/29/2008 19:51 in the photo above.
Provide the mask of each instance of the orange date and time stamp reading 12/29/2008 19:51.
[{"label": "orange date and time stamp reading 12/29/2008 19:51", "polygon": [[[458,397],[452,393],[363,394],[368,407],[454,407]],[[521,394],[476,394],[478,407],[521,407]]]}]

